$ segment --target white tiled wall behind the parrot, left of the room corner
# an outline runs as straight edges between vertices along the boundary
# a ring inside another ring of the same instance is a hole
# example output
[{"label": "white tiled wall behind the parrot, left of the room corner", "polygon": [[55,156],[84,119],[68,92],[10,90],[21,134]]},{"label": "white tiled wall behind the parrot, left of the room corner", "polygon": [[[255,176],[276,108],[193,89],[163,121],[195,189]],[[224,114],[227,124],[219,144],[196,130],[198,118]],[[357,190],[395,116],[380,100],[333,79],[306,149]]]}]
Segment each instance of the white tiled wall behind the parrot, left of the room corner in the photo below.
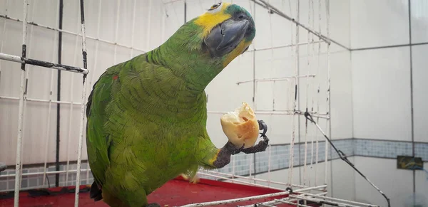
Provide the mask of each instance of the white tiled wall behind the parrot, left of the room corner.
[{"label": "white tiled wall behind the parrot, left of the room corner", "polygon": [[[5,1],[1,1],[4,4]],[[8,1],[8,16],[22,18],[22,1]],[[58,14],[57,1],[29,1],[29,21],[35,21],[46,26],[56,27],[58,22],[55,16]],[[161,1],[121,1],[117,5],[116,1],[102,2],[101,13],[98,12],[100,1],[86,1],[86,35],[94,38],[101,38],[106,41],[118,42],[121,45],[132,46],[140,50],[131,50],[122,46],[113,46],[101,41],[87,39],[88,68],[91,73],[88,76],[88,92],[98,76],[106,68],[132,56],[156,48],[163,43],[175,30],[184,23],[184,5],[182,1],[176,1],[165,6]],[[202,14],[209,8],[213,1],[187,1],[187,20]],[[327,16],[325,16],[325,1],[321,1],[321,12],[318,10],[318,3],[314,1],[314,13],[309,9],[309,2],[300,1],[300,19],[316,31],[321,28],[321,32],[327,35]],[[266,9],[250,4],[247,0],[233,1],[235,4],[244,6],[255,17],[257,34],[250,51],[240,55],[230,65],[223,70],[217,78],[208,85],[208,110],[210,112],[225,112],[235,109],[241,102],[245,101],[258,110],[274,110],[272,104],[275,100],[275,110],[292,110],[293,89],[292,80],[278,81],[275,83],[259,83],[256,90],[257,106],[253,105],[253,83],[237,85],[238,81],[251,80],[253,78],[253,63],[255,63],[256,78],[279,78],[295,74],[295,51],[293,48],[277,48],[265,51],[257,50],[270,48],[272,46],[286,46],[292,43],[295,38],[295,26],[285,18],[270,15]],[[296,16],[296,1],[272,0],[272,5],[281,9],[292,17]],[[67,31],[79,33],[79,7],[78,1],[64,1],[63,28]],[[34,7],[36,6],[36,7]],[[149,9],[149,6],[151,6]],[[291,7],[290,7],[291,6]],[[347,1],[330,1],[330,36],[335,41],[349,47],[350,41],[350,8],[351,3]],[[6,5],[0,6],[6,8]],[[34,9],[34,11],[33,11]],[[135,27],[133,27],[133,9],[136,9]],[[4,15],[4,9],[0,14]],[[117,14],[120,15],[117,18]],[[310,14],[310,19],[308,17]],[[321,14],[321,20],[319,17]],[[168,17],[166,16],[168,15]],[[100,21],[98,22],[98,16]],[[312,22],[313,21],[313,22]],[[6,22],[6,32],[3,30],[3,23]],[[320,25],[320,26],[319,26]],[[116,29],[117,26],[117,29]],[[3,53],[20,55],[21,53],[21,23],[0,18],[0,39],[3,40]],[[99,27],[99,31],[98,31]],[[116,32],[117,31],[117,32]],[[300,43],[308,41],[307,31],[300,28]],[[28,35],[28,56],[57,62],[57,36],[56,32],[49,31],[36,26],[29,26]],[[310,41],[312,41],[312,36]],[[31,38],[31,39],[30,39]],[[7,40],[7,41],[4,41]],[[317,38],[314,38],[317,41]],[[142,51],[141,51],[142,50]],[[308,107],[315,107],[319,103],[320,113],[327,110],[327,60],[330,58],[331,70],[331,116],[332,116],[332,139],[352,138],[352,77],[351,77],[351,54],[345,48],[332,44],[330,46],[330,57],[327,56],[325,44],[321,45],[318,54],[318,45],[315,44],[307,48],[300,46],[299,73],[300,75],[316,73],[317,77],[308,79],[309,90],[306,90],[306,79],[300,79],[298,109],[305,111]],[[253,54],[255,53],[255,58]],[[71,34],[63,33],[62,63],[66,65],[83,66],[81,61],[81,38]],[[309,66],[308,66],[309,62]],[[319,63],[319,64],[318,64]],[[6,61],[0,62],[1,80],[0,95],[18,97],[19,95],[19,67],[18,63]],[[320,66],[319,68],[317,66]],[[27,66],[29,68],[29,93],[28,97],[49,99],[51,75],[53,81],[52,99],[56,100],[56,70]],[[53,72],[52,72],[53,71]],[[317,80],[320,81],[320,94],[317,95]],[[216,85],[214,87],[214,85]],[[273,89],[273,90],[272,90]],[[308,99],[306,100],[306,97]],[[61,100],[81,102],[81,75],[73,73],[62,73],[61,77]],[[312,105],[312,100],[314,105]],[[307,104],[308,101],[308,104]],[[0,99],[0,161],[6,164],[14,164],[16,150],[16,129],[18,105],[16,100]],[[27,102],[26,118],[24,126],[24,163],[38,164],[44,162],[44,155],[47,154],[48,161],[55,161],[55,139],[56,139],[56,104],[51,106],[50,124],[47,124],[48,114],[47,103]],[[79,105],[61,105],[61,142],[60,161],[76,159],[76,149],[78,139]],[[219,113],[208,115],[208,132],[216,146],[222,147],[226,142],[220,127]],[[290,143],[292,133],[292,117],[284,115],[258,115],[259,119],[265,120],[269,125],[268,136],[272,144]],[[6,120],[6,121],[4,121]],[[297,120],[297,118],[296,118]],[[305,119],[300,117],[300,142],[305,141]],[[320,125],[325,127],[325,120],[320,120]],[[49,131],[47,131],[49,127]],[[307,140],[312,138],[324,141],[325,139],[317,133],[313,125],[310,125]],[[297,139],[297,136],[296,136]],[[299,141],[298,139],[296,141]],[[46,148],[45,143],[48,143]],[[86,144],[83,144],[84,146]],[[86,159],[86,148],[83,147],[83,159]],[[334,196],[339,198],[354,198],[353,171],[344,168],[342,164],[332,162]],[[330,169],[329,169],[330,171]],[[281,173],[272,172],[272,176],[280,177]],[[298,174],[297,174],[298,175]],[[262,175],[260,175],[262,176]],[[317,174],[323,177],[323,174]],[[298,176],[296,176],[297,178]],[[330,176],[328,176],[330,179]],[[343,190],[343,185],[347,188]],[[337,190],[335,190],[337,188]],[[348,190],[349,189],[349,190]]]}]

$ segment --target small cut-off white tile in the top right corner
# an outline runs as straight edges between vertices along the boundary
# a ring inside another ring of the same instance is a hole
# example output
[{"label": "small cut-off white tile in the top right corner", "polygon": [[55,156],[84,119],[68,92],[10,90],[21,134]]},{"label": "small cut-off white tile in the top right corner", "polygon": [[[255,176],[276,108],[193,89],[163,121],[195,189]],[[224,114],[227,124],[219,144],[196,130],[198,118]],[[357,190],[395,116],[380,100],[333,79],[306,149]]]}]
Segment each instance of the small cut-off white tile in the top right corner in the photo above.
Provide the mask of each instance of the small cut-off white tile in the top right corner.
[{"label": "small cut-off white tile in the top right corner", "polygon": [[412,43],[428,42],[428,1],[410,1],[412,21]]}]

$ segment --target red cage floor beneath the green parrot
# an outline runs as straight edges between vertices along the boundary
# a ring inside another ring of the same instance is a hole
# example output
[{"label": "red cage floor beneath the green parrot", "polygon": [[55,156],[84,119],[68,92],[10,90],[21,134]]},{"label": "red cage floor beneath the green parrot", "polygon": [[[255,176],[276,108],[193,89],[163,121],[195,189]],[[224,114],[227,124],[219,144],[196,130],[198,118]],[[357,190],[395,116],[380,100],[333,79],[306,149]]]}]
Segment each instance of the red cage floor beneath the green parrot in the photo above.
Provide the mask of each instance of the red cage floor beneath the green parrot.
[{"label": "red cage floor beneath the green parrot", "polygon": [[[89,198],[89,193],[86,191],[88,186],[81,186],[83,192],[80,194],[79,206],[96,206],[96,207],[108,207],[103,201],[94,202]],[[49,189],[51,195],[37,195],[34,196],[35,192],[40,191],[26,191],[21,193],[19,199],[20,207],[57,207],[57,206],[74,206],[74,192],[63,189],[63,192],[59,192],[61,188]],[[174,179],[169,181],[167,184],[157,189],[148,196],[149,203],[159,203],[161,206],[168,205],[182,206],[189,203],[200,203],[207,201],[218,201],[231,198],[242,198],[248,196],[257,196],[267,193],[279,192],[274,189],[266,189],[255,186],[245,186],[240,184],[230,184],[221,181],[212,181],[207,179],[200,179],[198,184],[190,184],[188,181],[183,179]],[[54,194],[54,195],[52,195]],[[33,195],[33,196],[31,196]],[[0,206],[14,206],[14,194],[13,192],[6,194],[0,193]],[[285,196],[282,196],[285,197]],[[281,197],[275,197],[281,198]],[[270,201],[273,198],[263,198],[253,201],[230,203],[228,205],[218,206],[243,206],[248,204],[258,203],[260,201]],[[281,207],[289,205],[280,205]]]}]

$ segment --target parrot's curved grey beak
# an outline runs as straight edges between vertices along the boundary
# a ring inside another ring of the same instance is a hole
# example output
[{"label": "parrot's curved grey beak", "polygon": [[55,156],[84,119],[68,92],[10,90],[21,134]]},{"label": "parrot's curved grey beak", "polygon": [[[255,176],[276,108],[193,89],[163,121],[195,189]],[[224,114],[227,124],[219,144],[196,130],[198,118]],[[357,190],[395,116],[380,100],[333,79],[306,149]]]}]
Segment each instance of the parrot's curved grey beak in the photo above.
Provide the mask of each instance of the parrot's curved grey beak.
[{"label": "parrot's curved grey beak", "polygon": [[245,18],[228,19],[213,28],[204,43],[213,57],[221,57],[239,45],[249,27],[250,21]]}]

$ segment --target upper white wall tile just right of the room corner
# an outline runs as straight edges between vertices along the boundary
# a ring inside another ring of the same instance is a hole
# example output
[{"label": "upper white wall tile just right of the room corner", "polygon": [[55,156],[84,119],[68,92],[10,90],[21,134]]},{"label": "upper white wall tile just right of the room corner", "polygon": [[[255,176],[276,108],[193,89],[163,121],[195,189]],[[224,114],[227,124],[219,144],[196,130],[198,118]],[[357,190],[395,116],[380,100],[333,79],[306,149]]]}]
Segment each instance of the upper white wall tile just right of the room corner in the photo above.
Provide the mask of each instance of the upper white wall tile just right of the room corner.
[{"label": "upper white wall tile just right of the room corner", "polygon": [[351,48],[409,43],[408,1],[351,0]]}]

